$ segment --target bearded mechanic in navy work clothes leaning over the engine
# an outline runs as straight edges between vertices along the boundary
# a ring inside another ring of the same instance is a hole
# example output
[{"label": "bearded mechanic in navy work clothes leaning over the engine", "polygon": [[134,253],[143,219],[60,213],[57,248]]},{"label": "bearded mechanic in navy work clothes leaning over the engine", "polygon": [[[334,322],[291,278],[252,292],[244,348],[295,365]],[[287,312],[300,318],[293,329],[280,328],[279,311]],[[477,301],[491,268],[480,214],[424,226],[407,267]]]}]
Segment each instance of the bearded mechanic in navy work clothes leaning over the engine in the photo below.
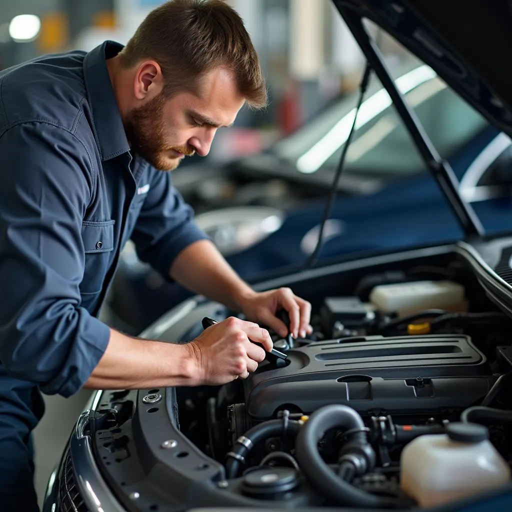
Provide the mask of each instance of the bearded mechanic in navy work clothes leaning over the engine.
[{"label": "bearded mechanic in navy work clothes leaning over the engine", "polygon": [[249,35],[221,0],[174,0],[123,48],[38,57],[0,73],[0,510],[37,510],[31,431],[40,392],[220,385],[246,378],[268,331],[228,318],[190,344],[126,336],[97,314],[127,239],[168,279],[282,335],[310,304],[253,291],[194,223],[169,170],[208,154],[267,91]]}]

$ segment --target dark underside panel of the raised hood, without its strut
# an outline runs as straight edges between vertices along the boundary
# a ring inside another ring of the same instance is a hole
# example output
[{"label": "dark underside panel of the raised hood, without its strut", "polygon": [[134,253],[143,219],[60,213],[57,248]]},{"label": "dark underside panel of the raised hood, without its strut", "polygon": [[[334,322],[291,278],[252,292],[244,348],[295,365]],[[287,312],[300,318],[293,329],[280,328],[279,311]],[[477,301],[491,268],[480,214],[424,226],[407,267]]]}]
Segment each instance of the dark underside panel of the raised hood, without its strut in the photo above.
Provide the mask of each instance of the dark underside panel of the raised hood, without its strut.
[{"label": "dark underside panel of the raised hood, without its strut", "polygon": [[512,136],[512,2],[333,0],[342,14],[371,19]]}]

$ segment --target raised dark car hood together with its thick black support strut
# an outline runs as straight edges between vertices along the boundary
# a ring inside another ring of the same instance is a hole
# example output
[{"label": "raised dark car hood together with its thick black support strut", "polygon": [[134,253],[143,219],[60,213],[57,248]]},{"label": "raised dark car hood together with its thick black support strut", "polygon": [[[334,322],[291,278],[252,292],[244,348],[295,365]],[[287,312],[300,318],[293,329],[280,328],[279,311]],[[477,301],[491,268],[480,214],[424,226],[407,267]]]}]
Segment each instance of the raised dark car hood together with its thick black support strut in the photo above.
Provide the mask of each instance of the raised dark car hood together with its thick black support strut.
[{"label": "raised dark car hood together with its thick black support strut", "polygon": [[439,184],[466,238],[485,232],[459,194],[449,163],[437,153],[391,78],[364,20],[387,31],[429,65],[490,123],[512,136],[512,74],[502,50],[512,48],[512,0],[486,9],[479,0],[333,0],[382,85],[390,94],[423,161]]}]

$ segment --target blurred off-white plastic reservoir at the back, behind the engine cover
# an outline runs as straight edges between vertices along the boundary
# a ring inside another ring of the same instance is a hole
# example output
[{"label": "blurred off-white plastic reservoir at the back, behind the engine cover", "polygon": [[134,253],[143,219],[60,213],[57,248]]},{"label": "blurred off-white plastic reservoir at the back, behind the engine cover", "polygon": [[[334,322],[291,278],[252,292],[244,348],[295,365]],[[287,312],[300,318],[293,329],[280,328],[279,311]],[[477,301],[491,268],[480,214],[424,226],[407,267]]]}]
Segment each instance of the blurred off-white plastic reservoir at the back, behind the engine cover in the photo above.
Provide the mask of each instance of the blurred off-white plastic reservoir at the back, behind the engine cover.
[{"label": "blurred off-white plastic reservoir at the back, behind the engine cover", "polygon": [[463,311],[464,287],[453,281],[415,281],[376,286],[370,302],[382,313],[406,316],[423,309]]}]

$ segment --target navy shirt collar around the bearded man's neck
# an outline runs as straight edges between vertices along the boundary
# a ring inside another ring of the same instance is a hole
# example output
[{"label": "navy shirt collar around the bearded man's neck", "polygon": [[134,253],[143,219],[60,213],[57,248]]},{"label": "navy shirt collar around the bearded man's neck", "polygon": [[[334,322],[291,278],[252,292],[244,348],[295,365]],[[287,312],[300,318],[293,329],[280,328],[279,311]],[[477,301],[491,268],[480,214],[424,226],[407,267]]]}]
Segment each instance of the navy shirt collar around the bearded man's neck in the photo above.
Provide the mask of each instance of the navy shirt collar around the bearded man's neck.
[{"label": "navy shirt collar around the bearded man's neck", "polygon": [[119,53],[122,48],[117,42],[105,41],[91,50],[83,60],[83,74],[91,106],[94,136],[101,160],[109,160],[130,151],[106,67],[106,59]]}]

